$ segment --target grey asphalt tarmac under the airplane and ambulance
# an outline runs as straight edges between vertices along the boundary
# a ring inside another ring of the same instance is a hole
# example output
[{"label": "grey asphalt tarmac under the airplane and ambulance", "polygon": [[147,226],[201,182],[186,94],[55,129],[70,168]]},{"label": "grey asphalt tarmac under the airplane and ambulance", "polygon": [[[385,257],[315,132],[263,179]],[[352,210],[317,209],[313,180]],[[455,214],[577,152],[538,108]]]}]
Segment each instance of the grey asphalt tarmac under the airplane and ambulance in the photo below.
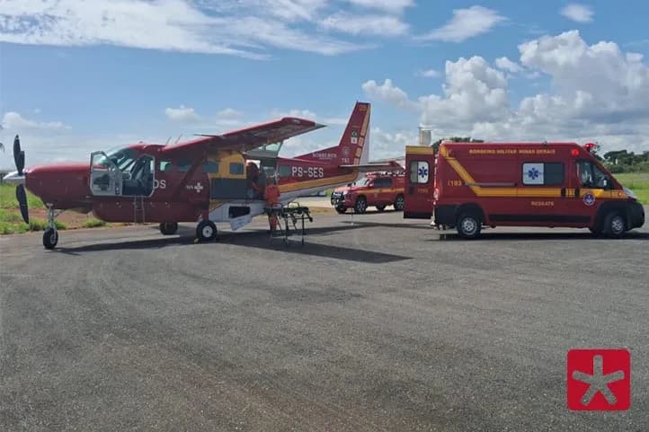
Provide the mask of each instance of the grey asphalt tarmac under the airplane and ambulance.
[{"label": "grey asphalt tarmac under the airplane and ambulance", "polygon": [[[646,228],[226,231],[0,237],[0,431],[649,430]],[[630,350],[630,410],[566,408],[571,348]]]}]

